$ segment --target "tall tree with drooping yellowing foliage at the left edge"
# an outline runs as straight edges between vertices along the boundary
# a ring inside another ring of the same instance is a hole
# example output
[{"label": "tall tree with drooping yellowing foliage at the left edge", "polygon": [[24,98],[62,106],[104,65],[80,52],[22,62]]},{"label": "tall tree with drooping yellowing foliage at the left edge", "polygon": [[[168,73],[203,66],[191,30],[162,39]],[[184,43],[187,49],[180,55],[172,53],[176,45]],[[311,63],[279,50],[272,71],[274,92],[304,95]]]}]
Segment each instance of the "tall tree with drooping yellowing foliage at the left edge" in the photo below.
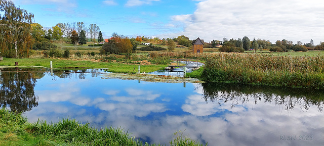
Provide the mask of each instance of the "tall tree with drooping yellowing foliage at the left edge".
[{"label": "tall tree with drooping yellowing foliage at the left edge", "polygon": [[32,47],[32,13],[15,7],[11,1],[0,1],[0,47],[1,55],[10,58],[29,56]]}]

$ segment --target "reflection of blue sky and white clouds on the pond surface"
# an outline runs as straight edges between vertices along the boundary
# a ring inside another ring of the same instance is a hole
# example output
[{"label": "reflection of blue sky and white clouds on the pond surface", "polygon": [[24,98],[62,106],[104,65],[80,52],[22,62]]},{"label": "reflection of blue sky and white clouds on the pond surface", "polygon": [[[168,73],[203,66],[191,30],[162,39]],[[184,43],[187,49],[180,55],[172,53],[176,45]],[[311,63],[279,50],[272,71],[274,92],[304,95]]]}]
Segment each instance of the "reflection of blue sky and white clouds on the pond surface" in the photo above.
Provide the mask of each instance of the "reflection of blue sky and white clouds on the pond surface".
[{"label": "reflection of blue sky and white clouds on the pond surface", "polygon": [[[321,124],[324,118],[316,106],[310,106],[307,112],[298,106],[285,110],[286,105],[264,98],[256,103],[249,94],[241,94],[241,98],[248,99],[245,102],[237,100],[238,97],[233,101],[211,102],[204,99],[204,86],[199,84],[188,83],[187,88],[179,84],[179,90],[186,92],[179,94],[174,88],[168,88],[170,84],[149,83],[135,88],[129,84],[133,81],[114,81],[125,86],[107,85],[109,90],[94,90],[100,92],[95,96],[82,95],[80,92],[85,89],[77,82],[69,82],[73,85],[69,88],[58,85],[61,87],[55,92],[36,90],[40,104],[25,115],[30,121],[40,117],[56,122],[70,117],[82,123],[90,122],[96,128],[121,127],[143,140],[161,144],[167,144],[178,130],[185,130],[184,135],[209,145],[320,145],[324,142]],[[100,86],[100,82],[97,84]],[[152,86],[159,86],[163,91],[155,91]],[[314,139],[287,141],[280,140],[281,135],[312,135]]]}]

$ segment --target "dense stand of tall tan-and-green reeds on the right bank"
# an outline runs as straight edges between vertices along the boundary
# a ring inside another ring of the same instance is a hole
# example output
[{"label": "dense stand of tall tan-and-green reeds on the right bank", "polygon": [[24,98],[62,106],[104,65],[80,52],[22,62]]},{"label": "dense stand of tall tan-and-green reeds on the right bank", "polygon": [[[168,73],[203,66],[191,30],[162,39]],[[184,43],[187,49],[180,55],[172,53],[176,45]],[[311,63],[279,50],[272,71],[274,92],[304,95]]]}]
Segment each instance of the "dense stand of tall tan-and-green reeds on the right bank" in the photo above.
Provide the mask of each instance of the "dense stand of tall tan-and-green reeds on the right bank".
[{"label": "dense stand of tall tan-and-green reeds on the right bank", "polygon": [[215,54],[201,77],[212,82],[324,89],[324,56]]}]

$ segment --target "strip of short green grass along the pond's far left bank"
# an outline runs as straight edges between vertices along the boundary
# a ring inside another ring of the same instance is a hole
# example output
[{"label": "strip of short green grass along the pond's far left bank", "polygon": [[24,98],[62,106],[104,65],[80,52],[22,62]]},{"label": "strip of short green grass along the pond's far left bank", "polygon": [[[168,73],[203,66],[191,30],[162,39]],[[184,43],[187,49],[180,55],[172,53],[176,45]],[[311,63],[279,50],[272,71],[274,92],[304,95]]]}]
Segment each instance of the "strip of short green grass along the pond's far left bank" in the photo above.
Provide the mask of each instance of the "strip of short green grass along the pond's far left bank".
[{"label": "strip of short green grass along the pond's far left bank", "polygon": [[[105,68],[110,72],[123,72],[123,73],[135,73],[138,69],[138,64],[125,64],[115,62],[93,62],[82,60],[63,60],[63,59],[12,59],[4,58],[0,61],[0,66],[10,67],[23,67],[23,66],[43,66],[50,67],[50,61],[53,62],[53,68]],[[19,66],[14,66],[15,62],[18,62]],[[167,67],[167,65],[141,65],[141,72],[153,72],[161,70]],[[134,69],[135,68],[135,69]]]}]

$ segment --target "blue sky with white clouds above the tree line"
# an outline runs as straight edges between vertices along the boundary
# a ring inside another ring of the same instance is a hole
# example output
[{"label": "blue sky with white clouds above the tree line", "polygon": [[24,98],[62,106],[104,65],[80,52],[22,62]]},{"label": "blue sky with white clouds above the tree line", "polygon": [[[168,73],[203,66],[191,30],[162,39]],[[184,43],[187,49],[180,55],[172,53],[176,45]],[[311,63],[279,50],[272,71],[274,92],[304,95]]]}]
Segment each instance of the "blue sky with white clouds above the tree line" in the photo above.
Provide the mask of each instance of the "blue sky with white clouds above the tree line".
[{"label": "blue sky with white clouds above the tree line", "polygon": [[35,23],[97,24],[104,38],[265,39],[324,41],[324,1],[321,0],[14,0],[34,14]]}]

